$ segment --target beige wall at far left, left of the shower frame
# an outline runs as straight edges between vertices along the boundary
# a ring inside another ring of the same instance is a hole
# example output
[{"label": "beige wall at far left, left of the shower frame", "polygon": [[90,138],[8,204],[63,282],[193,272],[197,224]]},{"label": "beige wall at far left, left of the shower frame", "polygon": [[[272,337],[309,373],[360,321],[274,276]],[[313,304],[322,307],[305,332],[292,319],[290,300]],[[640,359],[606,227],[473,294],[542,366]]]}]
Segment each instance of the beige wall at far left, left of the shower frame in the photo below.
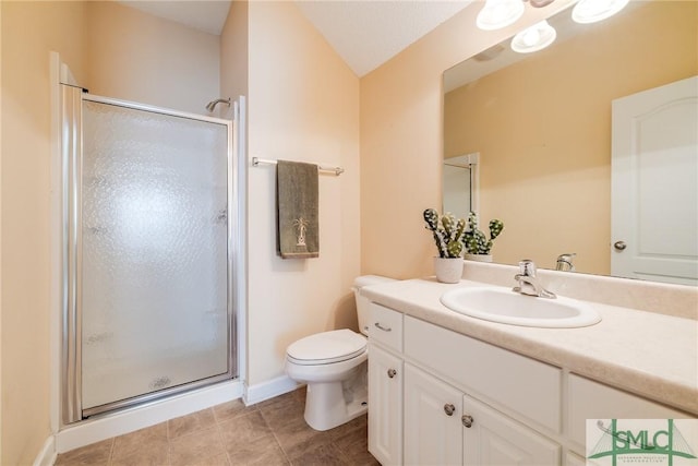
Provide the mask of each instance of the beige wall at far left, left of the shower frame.
[{"label": "beige wall at far left, left of the shower frame", "polygon": [[[32,464],[50,434],[49,51],[84,76],[84,4],[2,8],[2,456]],[[71,27],[65,27],[71,25]]]}]

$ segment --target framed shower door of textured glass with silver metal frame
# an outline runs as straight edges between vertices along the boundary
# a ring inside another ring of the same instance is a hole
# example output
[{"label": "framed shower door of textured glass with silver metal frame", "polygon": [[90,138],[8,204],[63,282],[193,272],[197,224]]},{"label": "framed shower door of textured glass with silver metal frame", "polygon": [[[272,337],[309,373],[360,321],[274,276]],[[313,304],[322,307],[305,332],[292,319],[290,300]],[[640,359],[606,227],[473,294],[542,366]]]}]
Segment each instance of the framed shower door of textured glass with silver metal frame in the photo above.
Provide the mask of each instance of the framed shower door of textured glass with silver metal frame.
[{"label": "framed shower door of textured glass with silver metal frame", "polygon": [[61,93],[63,422],[236,378],[236,121]]}]

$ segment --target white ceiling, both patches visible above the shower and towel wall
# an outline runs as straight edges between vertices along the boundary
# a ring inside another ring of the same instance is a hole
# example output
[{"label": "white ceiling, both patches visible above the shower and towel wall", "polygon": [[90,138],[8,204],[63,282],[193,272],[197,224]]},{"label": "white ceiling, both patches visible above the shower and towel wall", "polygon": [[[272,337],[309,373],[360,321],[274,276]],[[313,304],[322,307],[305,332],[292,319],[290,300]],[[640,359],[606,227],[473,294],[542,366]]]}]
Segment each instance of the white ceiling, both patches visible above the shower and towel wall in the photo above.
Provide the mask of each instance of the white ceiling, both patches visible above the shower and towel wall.
[{"label": "white ceiling, both patches visible above the shower and towel wall", "polygon": [[[473,0],[294,0],[358,76],[363,76]],[[220,35],[229,0],[120,1],[147,13]]]}]

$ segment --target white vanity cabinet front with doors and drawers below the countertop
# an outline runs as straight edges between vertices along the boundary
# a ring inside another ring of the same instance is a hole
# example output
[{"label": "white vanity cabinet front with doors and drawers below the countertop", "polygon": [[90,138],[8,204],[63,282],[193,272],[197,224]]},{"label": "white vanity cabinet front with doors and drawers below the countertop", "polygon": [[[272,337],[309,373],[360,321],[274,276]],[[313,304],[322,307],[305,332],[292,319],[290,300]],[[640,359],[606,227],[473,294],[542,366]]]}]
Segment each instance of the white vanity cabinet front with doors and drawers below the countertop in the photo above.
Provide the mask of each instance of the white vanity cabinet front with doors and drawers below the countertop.
[{"label": "white vanity cabinet front with doors and drawers below the countertop", "polygon": [[383,465],[578,466],[587,419],[695,417],[375,302],[369,335]]}]

